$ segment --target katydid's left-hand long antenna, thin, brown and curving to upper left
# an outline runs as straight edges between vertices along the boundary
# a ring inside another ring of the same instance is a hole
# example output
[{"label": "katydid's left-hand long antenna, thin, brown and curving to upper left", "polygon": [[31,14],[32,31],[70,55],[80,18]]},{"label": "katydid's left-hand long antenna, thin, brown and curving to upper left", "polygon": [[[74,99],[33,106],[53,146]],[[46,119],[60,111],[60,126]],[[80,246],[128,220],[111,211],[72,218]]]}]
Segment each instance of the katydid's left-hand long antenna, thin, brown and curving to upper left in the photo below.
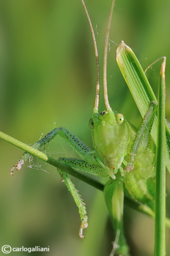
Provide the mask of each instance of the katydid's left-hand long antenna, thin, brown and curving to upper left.
[{"label": "katydid's left-hand long antenna, thin, brown and curving to upper left", "polygon": [[87,15],[87,19],[89,21],[89,25],[90,25],[90,29],[91,29],[91,33],[92,33],[92,37],[93,37],[93,42],[94,42],[94,47],[95,47],[95,55],[96,55],[96,66],[97,66],[97,85],[96,85],[96,98],[95,98],[95,107],[93,109],[93,113],[98,113],[98,104],[99,104],[99,89],[100,89],[100,74],[99,74],[99,63],[98,63],[98,53],[97,53],[97,45],[96,45],[96,39],[95,39],[95,34],[94,34],[94,30],[91,24],[91,20],[89,17],[89,14],[87,12],[87,8],[85,6],[85,3],[83,0],[81,0],[81,2],[83,3],[84,6],[84,10],[86,12]]}]

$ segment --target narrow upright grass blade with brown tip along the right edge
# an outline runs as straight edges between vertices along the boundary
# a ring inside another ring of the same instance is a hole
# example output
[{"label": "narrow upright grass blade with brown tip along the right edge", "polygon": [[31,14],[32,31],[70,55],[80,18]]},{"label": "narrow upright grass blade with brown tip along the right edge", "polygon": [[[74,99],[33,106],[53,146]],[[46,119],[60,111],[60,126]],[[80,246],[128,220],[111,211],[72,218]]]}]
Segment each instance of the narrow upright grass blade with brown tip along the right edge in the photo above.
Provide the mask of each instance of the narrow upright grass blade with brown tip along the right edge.
[{"label": "narrow upright grass blade with brown tip along the right edge", "polygon": [[165,63],[162,63],[158,89],[158,132],[156,154],[155,250],[154,256],[165,255]]}]

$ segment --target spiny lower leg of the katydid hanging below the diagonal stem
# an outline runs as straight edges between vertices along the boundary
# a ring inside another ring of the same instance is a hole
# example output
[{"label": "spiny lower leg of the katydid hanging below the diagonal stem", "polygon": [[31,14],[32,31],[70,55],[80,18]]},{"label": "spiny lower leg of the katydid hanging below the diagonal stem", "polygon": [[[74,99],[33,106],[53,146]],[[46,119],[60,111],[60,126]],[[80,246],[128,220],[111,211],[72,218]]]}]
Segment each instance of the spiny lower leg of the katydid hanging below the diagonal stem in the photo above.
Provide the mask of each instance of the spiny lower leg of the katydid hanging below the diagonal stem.
[{"label": "spiny lower leg of the katydid hanging below the diagonal stem", "polygon": [[81,219],[81,226],[80,226],[80,231],[79,231],[79,236],[81,238],[84,238],[83,236],[83,229],[87,228],[87,215],[86,215],[86,207],[85,203],[83,202],[83,199],[81,199],[81,195],[79,195],[79,191],[75,188],[74,184],[68,177],[67,173],[58,169],[58,172],[60,173],[62,177],[62,181],[66,184],[68,190],[72,194],[75,203],[77,204],[77,207],[79,208],[79,214],[80,214],[80,219]]}]

